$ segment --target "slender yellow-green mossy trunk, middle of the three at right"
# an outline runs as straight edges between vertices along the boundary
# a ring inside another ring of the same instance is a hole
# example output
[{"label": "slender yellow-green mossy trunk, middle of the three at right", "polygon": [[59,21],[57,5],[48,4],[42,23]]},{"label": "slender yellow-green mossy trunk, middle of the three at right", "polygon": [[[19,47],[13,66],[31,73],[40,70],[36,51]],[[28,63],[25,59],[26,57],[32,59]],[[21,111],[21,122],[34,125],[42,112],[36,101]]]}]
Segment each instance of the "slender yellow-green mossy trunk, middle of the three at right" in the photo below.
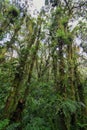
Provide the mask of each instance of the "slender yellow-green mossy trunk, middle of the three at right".
[{"label": "slender yellow-green mossy trunk, middle of the three at right", "polygon": [[[68,97],[75,101],[75,84],[74,84],[74,80],[75,80],[75,74],[74,74],[74,51],[73,51],[73,45],[72,43],[67,45],[67,63],[68,63]],[[70,126],[71,129],[76,128],[76,121],[77,121],[77,114],[76,113],[72,113],[71,114],[71,121],[70,121]]]}]

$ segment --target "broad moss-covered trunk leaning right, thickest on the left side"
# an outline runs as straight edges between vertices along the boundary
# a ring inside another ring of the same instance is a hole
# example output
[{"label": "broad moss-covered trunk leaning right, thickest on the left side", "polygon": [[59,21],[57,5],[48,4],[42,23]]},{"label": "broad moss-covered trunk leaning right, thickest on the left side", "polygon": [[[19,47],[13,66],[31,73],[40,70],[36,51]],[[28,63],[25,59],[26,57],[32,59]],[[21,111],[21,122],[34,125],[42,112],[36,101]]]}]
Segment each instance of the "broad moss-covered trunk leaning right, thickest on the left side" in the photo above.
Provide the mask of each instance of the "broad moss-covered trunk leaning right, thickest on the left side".
[{"label": "broad moss-covered trunk leaning right, thickest on the left side", "polygon": [[[29,43],[27,45],[27,53],[23,54],[23,56],[22,54],[20,55],[20,64],[17,68],[17,72],[15,74],[10,94],[6,101],[3,115],[4,118],[9,119],[11,122],[20,121],[22,118],[21,114],[23,112],[29,90],[27,83],[30,83],[32,70],[36,59],[36,53],[40,44],[40,30],[41,24],[38,27],[36,35],[34,37],[31,35],[30,37]],[[32,51],[31,57],[29,58],[32,44],[34,44],[34,50]]]}]

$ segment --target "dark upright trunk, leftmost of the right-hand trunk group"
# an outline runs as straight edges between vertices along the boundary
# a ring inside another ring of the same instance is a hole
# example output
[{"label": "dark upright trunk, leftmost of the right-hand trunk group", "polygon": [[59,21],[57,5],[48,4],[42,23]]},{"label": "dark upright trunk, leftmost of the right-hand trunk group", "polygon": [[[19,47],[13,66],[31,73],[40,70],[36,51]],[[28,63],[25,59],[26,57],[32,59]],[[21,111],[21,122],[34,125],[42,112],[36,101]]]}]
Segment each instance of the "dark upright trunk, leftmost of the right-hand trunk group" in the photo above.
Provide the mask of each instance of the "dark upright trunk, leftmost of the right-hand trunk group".
[{"label": "dark upright trunk, leftmost of the right-hand trunk group", "polygon": [[[63,101],[66,100],[66,87],[64,83],[65,72],[64,72],[64,58],[63,58],[63,43],[59,40],[59,91]],[[59,111],[59,122],[60,130],[67,130],[66,117],[63,108]]]}]

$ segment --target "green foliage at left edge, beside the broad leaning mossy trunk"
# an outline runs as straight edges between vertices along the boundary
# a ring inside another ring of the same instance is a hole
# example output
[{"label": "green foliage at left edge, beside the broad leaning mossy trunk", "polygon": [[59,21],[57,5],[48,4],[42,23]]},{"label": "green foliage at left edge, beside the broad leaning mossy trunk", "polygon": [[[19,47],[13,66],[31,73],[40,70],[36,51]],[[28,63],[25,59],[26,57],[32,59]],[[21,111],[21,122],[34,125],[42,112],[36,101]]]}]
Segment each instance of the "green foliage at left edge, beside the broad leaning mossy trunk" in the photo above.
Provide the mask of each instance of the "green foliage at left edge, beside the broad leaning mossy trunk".
[{"label": "green foliage at left edge, beside the broad leaning mossy trunk", "polygon": [[[2,111],[11,89],[15,69],[11,61],[4,62],[0,65],[0,111]],[[0,112],[0,115],[1,114]]]}]

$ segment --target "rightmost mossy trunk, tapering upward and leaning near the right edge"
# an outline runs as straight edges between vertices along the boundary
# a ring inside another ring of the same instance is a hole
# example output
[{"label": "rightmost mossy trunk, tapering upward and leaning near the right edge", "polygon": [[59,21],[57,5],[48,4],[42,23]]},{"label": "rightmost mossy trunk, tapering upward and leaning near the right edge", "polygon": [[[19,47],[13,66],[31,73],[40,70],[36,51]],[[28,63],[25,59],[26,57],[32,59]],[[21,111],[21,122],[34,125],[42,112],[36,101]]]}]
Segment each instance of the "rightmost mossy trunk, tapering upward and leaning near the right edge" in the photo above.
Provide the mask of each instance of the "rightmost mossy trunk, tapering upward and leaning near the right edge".
[{"label": "rightmost mossy trunk, tapering upward and leaning near the right edge", "polygon": [[[74,46],[74,53],[78,52],[77,46]],[[75,54],[74,54],[75,55]],[[86,130],[87,129],[87,107],[86,107],[86,101],[85,101],[85,92],[84,92],[84,84],[83,80],[81,79],[81,73],[78,70],[78,56],[75,55],[74,57],[74,77],[75,77],[75,87],[76,87],[76,101],[80,103],[80,109],[78,110],[78,116],[77,120],[79,124],[82,124],[82,126],[79,126],[79,130]]]}]

